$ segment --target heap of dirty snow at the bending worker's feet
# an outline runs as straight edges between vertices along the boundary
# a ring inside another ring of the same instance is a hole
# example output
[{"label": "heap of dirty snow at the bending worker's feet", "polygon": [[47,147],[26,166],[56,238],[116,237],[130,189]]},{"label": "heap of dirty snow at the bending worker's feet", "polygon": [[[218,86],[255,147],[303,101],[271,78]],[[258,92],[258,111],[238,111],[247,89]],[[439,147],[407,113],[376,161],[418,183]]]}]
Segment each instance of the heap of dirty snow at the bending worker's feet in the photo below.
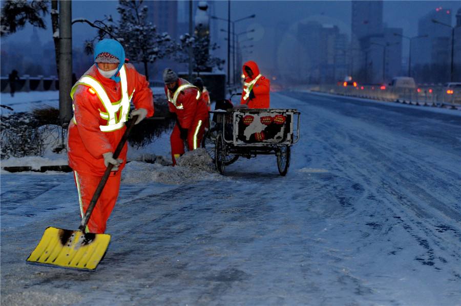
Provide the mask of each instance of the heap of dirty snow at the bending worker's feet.
[{"label": "heap of dirty snow at the bending worker's feet", "polygon": [[122,171],[122,182],[138,184],[158,182],[163,184],[183,184],[203,180],[223,180],[216,172],[211,157],[203,148],[186,152],[177,160],[177,165],[165,165],[164,157],[155,157],[153,164],[132,161]]}]

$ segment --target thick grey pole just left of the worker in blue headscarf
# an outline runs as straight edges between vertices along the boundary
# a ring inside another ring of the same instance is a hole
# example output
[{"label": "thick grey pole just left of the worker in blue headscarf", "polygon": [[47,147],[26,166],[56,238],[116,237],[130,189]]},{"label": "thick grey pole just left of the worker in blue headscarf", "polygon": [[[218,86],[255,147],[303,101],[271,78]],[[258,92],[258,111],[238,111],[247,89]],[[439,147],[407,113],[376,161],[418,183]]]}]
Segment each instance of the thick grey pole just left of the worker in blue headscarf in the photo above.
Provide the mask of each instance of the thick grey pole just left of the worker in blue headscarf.
[{"label": "thick grey pole just left of the worker in blue headscarf", "polygon": [[72,1],[59,2],[59,121],[67,127],[72,119]]}]

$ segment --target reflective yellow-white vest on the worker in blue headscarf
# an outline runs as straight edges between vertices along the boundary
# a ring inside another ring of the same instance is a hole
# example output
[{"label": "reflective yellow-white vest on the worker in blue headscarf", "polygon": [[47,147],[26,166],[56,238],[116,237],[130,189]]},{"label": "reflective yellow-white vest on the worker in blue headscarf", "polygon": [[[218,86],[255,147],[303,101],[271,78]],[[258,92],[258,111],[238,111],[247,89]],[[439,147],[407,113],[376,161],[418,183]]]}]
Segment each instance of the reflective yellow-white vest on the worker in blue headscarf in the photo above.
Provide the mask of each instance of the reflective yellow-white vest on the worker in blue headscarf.
[{"label": "reflective yellow-white vest on the worker in blue headscarf", "polygon": [[[109,99],[109,96],[104,90],[104,87],[97,81],[94,77],[90,75],[82,76],[77,83],[73,86],[71,90],[71,98],[74,100],[74,93],[77,90],[78,85],[89,86],[90,89],[98,95],[99,100],[105,108],[106,112],[99,110],[99,116],[102,119],[107,120],[106,125],[99,125],[99,128],[102,132],[112,132],[114,130],[120,129],[125,125],[125,122],[128,120],[128,113],[130,112],[130,101],[133,98],[135,90],[128,95],[128,82],[127,82],[127,71],[125,70],[125,65],[120,69],[120,84],[121,84],[121,99],[117,102],[112,103]],[[75,106],[72,104],[72,108],[75,111]],[[120,111],[119,116],[117,112]],[[74,124],[77,124],[77,121],[72,118]]]}]

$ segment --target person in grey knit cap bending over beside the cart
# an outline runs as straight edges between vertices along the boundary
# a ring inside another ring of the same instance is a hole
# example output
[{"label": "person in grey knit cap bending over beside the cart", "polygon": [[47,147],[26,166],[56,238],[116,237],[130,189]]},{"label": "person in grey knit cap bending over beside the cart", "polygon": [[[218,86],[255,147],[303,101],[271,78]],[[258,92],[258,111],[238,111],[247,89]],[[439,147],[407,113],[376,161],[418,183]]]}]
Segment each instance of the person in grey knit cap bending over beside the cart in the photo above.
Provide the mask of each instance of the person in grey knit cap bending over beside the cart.
[{"label": "person in grey knit cap bending over beside the cart", "polygon": [[208,122],[208,108],[197,86],[179,78],[170,68],[163,71],[163,81],[169,110],[176,118],[170,136],[171,157],[176,165],[176,159],[185,152],[184,142],[190,151],[200,147]]}]

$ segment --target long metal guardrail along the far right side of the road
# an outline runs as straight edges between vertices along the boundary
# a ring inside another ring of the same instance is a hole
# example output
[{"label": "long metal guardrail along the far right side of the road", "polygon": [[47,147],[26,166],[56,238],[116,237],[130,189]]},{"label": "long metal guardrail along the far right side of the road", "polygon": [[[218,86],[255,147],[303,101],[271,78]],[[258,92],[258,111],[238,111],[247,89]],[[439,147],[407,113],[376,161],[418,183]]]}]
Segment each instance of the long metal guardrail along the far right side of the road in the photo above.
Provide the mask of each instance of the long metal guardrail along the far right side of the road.
[{"label": "long metal guardrail along the far right side of the road", "polygon": [[461,109],[461,89],[453,89],[453,93],[448,94],[446,87],[442,86],[421,86],[417,89],[404,89],[360,84],[357,87],[310,85],[308,89],[313,92],[342,96]]}]

